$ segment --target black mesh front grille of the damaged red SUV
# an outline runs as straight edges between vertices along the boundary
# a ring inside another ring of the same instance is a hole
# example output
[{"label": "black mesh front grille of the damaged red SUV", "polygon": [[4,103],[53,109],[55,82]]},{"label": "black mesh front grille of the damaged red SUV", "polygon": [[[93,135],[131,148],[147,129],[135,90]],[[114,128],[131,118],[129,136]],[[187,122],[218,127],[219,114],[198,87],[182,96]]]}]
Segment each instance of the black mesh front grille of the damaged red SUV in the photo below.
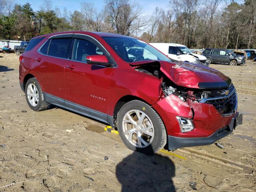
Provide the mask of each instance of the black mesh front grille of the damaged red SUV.
[{"label": "black mesh front grille of the damaged red SUV", "polygon": [[220,114],[225,116],[234,113],[234,110],[236,110],[236,102],[236,92],[233,92],[226,98],[207,100],[205,103],[212,104]]}]

